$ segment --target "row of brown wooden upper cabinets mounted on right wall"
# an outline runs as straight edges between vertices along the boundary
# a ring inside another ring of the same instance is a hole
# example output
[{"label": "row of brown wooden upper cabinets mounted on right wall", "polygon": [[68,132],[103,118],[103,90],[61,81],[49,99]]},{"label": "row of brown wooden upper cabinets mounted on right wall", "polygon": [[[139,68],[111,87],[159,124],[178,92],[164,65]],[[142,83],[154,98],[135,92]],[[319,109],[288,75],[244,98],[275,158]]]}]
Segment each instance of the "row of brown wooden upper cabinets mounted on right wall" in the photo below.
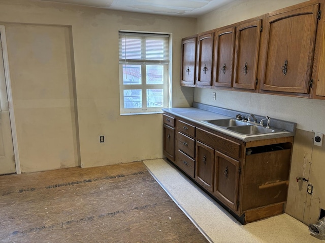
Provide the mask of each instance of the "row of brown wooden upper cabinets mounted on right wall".
[{"label": "row of brown wooden upper cabinets mounted on right wall", "polygon": [[181,85],[325,99],[323,13],[310,0],[182,39]]}]

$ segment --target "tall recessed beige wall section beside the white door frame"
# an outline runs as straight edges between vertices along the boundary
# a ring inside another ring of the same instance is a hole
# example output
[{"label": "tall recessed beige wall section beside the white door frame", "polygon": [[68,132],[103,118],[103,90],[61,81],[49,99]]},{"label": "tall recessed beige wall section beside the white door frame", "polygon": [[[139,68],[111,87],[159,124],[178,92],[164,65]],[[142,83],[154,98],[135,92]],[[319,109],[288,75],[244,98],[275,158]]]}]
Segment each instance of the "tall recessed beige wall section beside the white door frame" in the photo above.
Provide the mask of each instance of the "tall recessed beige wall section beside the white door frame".
[{"label": "tall recessed beige wall section beside the white door frame", "polygon": [[71,28],[7,24],[22,172],[78,166]]}]

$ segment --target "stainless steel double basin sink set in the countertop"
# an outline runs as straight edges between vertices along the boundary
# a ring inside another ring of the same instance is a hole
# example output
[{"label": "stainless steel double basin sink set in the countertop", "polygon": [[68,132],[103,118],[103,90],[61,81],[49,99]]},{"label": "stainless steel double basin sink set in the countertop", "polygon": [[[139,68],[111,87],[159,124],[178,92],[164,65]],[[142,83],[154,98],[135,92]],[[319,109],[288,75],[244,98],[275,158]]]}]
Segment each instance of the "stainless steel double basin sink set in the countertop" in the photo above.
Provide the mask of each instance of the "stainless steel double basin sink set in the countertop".
[{"label": "stainless steel double basin sink set in the countertop", "polygon": [[252,124],[249,121],[242,121],[237,119],[216,119],[216,120],[204,120],[203,122],[221,127],[235,133],[242,135],[257,135],[257,134],[270,134],[276,132],[283,132],[284,130],[276,128],[266,128],[261,125]]}]

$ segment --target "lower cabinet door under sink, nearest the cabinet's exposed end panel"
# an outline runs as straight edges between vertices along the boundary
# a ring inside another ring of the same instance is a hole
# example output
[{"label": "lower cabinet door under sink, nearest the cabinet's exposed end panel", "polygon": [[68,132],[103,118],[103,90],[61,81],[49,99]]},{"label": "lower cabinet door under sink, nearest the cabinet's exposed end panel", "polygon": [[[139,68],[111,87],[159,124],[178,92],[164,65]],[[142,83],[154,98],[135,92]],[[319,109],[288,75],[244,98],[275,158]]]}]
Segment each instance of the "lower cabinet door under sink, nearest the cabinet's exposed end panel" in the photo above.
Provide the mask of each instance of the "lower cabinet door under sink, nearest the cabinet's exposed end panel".
[{"label": "lower cabinet door under sink, nearest the cabinet's exposed end panel", "polygon": [[239,161],[215,151],[215,196],[237,211]]}]

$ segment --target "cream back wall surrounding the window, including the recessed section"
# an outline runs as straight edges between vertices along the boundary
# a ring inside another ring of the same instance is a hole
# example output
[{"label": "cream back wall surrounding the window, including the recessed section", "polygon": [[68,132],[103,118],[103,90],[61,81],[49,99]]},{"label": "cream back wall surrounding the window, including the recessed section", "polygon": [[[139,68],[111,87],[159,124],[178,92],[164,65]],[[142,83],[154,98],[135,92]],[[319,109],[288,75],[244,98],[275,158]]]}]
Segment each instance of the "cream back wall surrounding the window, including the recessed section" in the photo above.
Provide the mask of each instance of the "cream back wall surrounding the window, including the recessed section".
[{"label": "cream back wall surrounding the window, including the recessed section", "polygon": [[[5,26],[8,35],[22,172],[163,157],[161,114],[120,116],[118,31],[172,33],[173,65],[169,70],[173,81],[172,104],[189,106],[193,101],[193,90],[179,86],[180,47],[182,37],[196,32],[196,19],[36,0],[2,0],[0,24]],[[31,26],[32,31],[28,32]],[[59,36],[54,30],[58,29],[69,29],[66,35],[60,35],[62,42],[57,42]],[[47,36],[48,41],[46,38],[41,40],[42,36]],[[60,80],[61,76],[47,72],[37,61],[48,58],[50,63],[57,63],[64,59],[64,55],[61,59],[55,58],[56,49],[41,51],[51,42],[61,45],[56,48],[66,55],[66,59],[71,57],[70,62],[60,63],[63,66],[59,68],[63,78],[69,80],[65,83],[66,88],[56,89],[54,81]],[[65,47],[71,48],[69,53]],[[24,53],[20,53],[19,48]],[[39,51],[33,53],[33,48]],[[49,74],[51,77],[47,80]],[[51,85],[46,86],[46,82]],[[69,86],[75,93],[68,91]],[[35,87],[39,91],[44,88],[45,92],[35,92]],[[62,103],[64,92],[69,93],[64,96],[64,102],[73,100],[72,110]],[[70,113],[65,113],[64,117],[70,115],[70,120],[62,122],[62,113],[47,109],[50,106],[66,107],[63,110]],[[76,121],[74,117],[77,117]],[[65,131],[67,124],[70,129]],[[104,143],[100,143],[100,135],[105,136]],[[44,136],[47,136],[45,140]],[[69,149],[63,154],[63,148],[67,146]]]}]

